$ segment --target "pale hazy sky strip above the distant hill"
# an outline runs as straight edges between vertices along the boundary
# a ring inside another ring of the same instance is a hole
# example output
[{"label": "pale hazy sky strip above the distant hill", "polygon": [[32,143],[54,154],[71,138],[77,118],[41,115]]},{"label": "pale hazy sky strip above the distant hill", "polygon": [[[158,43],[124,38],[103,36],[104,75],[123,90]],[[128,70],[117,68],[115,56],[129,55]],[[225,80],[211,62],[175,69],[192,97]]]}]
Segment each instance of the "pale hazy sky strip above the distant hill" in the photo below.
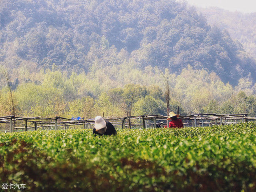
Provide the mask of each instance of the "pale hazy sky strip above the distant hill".
[{"label": "pale hazy sky strip above the distant hill", "polygon": [[[184,0],[178,0],[184,1]],[[219,7],[230,11],[245,13],[256,12],[256,0],[185,0],[191,5],[200,7]]]}]

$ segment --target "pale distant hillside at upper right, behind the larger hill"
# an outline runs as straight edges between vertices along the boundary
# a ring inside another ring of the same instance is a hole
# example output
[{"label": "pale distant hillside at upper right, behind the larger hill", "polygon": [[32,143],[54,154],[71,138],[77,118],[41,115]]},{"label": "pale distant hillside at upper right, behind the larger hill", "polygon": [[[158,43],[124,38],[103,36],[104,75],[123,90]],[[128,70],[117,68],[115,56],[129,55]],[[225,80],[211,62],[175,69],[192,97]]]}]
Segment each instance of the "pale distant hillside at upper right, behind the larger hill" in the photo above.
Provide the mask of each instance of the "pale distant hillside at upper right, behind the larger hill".
[{"label": "pale distant hillside at upper right, behind the larger hill", "polygon": [[230,12],[217,7],[198,9],[211,26],[227,30],[231,38],[238,40],[244,50],[256,58],[256,13]]}]

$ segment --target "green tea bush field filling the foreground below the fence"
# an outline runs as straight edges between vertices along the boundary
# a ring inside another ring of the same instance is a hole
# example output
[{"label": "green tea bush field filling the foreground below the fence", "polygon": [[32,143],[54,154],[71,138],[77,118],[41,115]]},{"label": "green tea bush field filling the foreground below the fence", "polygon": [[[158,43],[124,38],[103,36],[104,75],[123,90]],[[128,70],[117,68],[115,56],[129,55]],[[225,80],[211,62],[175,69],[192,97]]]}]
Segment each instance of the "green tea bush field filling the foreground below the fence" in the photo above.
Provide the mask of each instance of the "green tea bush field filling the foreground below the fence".
[{"label": "green tea bush field filling the foreground below the fence", "polygon": [[31,192],[256,191],[256,124],[117,132],[0,134],[0,184]]}]

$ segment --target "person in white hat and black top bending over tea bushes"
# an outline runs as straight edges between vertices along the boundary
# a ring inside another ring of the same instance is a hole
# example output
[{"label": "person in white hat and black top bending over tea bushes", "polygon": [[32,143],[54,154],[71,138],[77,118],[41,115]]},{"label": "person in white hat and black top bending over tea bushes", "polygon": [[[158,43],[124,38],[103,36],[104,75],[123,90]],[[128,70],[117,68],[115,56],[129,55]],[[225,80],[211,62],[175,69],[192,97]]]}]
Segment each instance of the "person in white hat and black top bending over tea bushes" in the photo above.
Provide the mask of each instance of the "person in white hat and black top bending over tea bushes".
[{"label": "person in white hat and black top bending over tea bushes", "polygon": [[92,132],[97,135],[116,135],[116,129],[112,123],[105,121],[102,116],[94,118],[95,124]]}]

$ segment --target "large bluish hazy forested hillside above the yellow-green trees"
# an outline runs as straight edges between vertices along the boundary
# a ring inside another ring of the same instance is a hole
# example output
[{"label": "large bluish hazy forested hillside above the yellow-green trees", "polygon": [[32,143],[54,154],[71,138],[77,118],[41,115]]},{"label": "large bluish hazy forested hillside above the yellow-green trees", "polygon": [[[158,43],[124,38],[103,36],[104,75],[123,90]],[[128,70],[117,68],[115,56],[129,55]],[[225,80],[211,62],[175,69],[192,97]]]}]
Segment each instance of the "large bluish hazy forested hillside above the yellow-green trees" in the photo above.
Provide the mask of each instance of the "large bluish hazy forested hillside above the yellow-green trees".
[{"label": "large bluish hazy forested hillside above the yellow-green trees", "polygon": [[122,64],[179,74],[190,64],[233,85],[255,61],[230,35],[210,27],[194,8],[174,0],[3,0],[0,60],[10,69],[91,72]]}]

